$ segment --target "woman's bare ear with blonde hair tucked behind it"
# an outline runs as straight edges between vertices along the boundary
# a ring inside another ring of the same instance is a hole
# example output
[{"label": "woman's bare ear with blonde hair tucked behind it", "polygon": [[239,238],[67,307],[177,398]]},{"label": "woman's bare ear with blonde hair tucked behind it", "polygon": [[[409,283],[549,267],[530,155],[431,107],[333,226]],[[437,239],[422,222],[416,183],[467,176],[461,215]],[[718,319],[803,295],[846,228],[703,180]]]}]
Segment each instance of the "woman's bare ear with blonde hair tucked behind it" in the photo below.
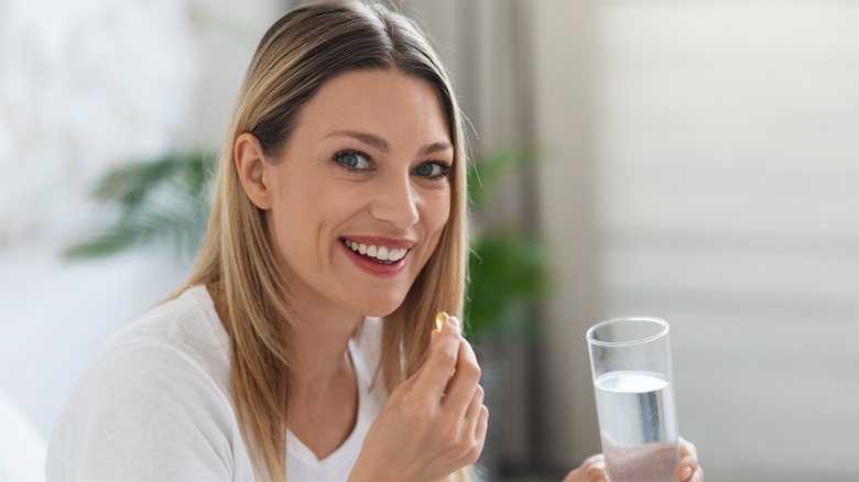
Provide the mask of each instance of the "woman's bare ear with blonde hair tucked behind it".
[{"label": "woman's bare ear with blonde hair tucked behind it", "polygon": [[232,158],[251,202],[260,209],[271,209],[273,166],[265,160],[259,139],[249,132],[239,134],[232,144]]}]

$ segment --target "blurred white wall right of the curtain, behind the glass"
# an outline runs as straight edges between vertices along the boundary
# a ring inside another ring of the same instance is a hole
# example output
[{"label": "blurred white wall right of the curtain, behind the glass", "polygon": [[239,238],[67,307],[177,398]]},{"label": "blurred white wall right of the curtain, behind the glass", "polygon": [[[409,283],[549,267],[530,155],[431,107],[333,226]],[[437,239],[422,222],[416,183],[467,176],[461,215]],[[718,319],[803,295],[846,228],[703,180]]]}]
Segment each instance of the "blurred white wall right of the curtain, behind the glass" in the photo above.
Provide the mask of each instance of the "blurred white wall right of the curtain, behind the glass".
[{"label": "blurred white wall right of the curtain, behind the glass", "polygon": [[672,324],[708,480],[859,479],[859,4],[604,1],[600,318]]}]

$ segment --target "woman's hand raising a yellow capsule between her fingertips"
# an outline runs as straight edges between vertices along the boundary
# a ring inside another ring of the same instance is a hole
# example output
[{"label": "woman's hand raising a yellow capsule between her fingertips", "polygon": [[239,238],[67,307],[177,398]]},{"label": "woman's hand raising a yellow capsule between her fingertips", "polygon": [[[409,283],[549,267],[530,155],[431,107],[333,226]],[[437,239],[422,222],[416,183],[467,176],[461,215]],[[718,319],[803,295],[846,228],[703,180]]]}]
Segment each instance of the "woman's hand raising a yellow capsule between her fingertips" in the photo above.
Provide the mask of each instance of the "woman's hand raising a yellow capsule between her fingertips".
[{"label": "woman's hand raising a yellow capsule between her fingertips", "polygon": [[434,337],[426,363],[370,426],[350,481],[437,481],[483,449],[489,412],[475,352],[454,317]]}]

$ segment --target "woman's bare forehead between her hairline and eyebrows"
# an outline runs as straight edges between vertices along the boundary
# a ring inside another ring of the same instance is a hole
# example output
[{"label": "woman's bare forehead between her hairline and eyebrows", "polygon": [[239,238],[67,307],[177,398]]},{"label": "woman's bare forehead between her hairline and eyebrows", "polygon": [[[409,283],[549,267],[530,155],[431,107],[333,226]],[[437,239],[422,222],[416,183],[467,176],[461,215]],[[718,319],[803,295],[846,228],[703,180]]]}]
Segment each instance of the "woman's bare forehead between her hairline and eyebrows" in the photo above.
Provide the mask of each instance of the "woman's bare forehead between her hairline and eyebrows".
[{"label": "woman's bare forehead between her hairline and eyebrows", "polygon": [[325,83],[303,107],[296,133],[336,130],[367,131],[392,143],[450,142],[436,88],[396,69],[348,72]]}]

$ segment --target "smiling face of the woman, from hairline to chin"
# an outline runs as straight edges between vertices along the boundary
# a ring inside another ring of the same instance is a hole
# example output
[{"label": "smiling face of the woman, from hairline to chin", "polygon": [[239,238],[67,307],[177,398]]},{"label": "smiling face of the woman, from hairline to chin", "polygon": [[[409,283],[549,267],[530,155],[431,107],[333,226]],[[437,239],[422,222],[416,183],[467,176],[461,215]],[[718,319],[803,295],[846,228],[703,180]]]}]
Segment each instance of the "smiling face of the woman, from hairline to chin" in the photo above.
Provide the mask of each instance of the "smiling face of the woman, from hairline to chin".
[{"label": "smiling face of the woman, from hairline to chin", "polygon": [[302,306],[384,316],[450,212],[454,149],[435,89],[394,69],[339,75],[302,109],[267,211]]}]

